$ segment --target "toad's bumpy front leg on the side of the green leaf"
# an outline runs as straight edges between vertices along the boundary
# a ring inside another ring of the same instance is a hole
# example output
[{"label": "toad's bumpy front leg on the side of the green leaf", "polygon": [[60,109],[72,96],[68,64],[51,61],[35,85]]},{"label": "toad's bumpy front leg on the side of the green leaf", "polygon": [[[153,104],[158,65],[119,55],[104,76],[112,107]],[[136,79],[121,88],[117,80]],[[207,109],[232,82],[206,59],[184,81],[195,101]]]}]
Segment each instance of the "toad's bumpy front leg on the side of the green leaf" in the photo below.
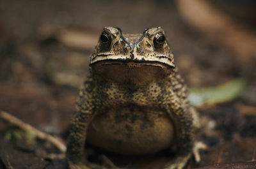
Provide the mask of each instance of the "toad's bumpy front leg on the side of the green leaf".
[{"label": "toad's bumpy front leg on the side of the green leaf", "polygon": [[193,126],[193,115],[189,111],[189,107],[187,102],[180,101],[175,94],[168,95],[163,101],[163,108],[168,112],[175,125],[175,141],[177,143],[175,158],[164,166],[164,169],[184,168],[193,154],[195,126]]}]

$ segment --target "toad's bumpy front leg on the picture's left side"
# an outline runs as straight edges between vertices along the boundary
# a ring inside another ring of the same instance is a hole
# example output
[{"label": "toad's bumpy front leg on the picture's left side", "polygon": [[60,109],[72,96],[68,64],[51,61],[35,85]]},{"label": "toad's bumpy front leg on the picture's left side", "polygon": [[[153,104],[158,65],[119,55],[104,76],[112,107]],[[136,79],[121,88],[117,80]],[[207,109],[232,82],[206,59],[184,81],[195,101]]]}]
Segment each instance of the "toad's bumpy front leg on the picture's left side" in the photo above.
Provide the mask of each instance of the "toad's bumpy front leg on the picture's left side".
[{"label": "toad's bumpy front leg on the picture's left side", "polygon": [[80,96],[70,123],[70,135],[67,143],[67,162],[70,169],[92,168],[86,165],[84,145],[88,125],[95,114],[94,109],[92,93],[86,92]]}]

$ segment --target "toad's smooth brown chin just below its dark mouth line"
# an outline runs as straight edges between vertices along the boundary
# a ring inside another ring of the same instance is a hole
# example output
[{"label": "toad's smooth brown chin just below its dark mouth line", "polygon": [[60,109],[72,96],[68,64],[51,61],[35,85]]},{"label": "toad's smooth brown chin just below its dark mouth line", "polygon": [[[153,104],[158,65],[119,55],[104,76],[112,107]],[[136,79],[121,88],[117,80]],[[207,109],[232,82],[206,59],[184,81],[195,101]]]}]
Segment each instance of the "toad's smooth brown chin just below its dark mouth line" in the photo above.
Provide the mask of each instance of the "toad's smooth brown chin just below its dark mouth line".
[{"label": "toad's smooth brown chin just below its dark mouth line", "polygon": [[172,73],[164,64],[154,62],[98,62],[91,65],[94,77],[127,85],[142,85],[163,80]]}]

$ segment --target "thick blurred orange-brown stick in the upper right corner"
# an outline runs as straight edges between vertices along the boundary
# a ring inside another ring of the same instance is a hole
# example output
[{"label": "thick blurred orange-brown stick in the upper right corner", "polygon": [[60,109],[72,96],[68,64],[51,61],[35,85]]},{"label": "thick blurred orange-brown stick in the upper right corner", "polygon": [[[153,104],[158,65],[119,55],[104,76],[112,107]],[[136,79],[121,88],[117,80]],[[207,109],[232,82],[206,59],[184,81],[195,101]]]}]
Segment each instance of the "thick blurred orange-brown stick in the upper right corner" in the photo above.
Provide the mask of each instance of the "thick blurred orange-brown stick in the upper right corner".
[{"label": "thick blurred orange-brown stick in the upper right corner", "polygon": [[176,0],[185,20],[211,40],[229,48],[237,61],[250,62],[256,55],[256,35],[234,19],[214,8],[211,1]]}]

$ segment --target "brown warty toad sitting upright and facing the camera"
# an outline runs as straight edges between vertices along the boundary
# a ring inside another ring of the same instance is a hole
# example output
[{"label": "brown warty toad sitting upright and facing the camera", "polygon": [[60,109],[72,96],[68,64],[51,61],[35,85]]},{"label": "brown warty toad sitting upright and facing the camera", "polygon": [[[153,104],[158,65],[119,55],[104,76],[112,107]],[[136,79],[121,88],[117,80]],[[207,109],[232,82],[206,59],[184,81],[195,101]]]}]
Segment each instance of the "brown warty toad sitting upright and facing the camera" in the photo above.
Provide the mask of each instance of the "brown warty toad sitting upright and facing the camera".
[{"label": "brown warty toad sitting upright and facing the camera", "polygon": [[184,167],[199,122],[168,44],[157,44],[163,29],[123,36],[120,29],[105,27],[102,34],[110,41],[99,41],[91,75],[79,92],[68,139],[69,167],[92,168],[84,156],[86,139],[129,155],[176,149],[164,168]]}]

